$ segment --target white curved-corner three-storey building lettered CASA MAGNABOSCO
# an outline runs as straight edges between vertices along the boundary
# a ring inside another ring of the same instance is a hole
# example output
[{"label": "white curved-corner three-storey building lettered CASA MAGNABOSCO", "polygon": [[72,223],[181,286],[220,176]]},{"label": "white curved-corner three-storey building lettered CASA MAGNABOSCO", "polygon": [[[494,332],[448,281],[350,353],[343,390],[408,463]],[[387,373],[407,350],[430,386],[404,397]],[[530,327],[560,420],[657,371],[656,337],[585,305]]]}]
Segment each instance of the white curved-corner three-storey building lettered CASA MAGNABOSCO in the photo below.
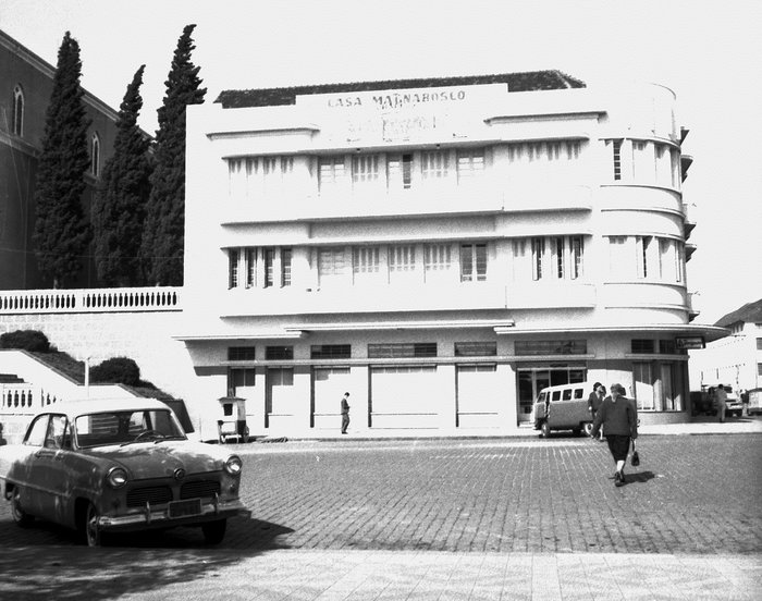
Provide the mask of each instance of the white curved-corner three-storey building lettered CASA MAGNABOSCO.
[{"label": "white curved-corner three-storey building lettered CASA MAGNABOSCO", "polygon": [[688,419],[674,94],[555,71],[230,90],[187,114],[195,394],[253,434],[507,432],[546,385]]}]

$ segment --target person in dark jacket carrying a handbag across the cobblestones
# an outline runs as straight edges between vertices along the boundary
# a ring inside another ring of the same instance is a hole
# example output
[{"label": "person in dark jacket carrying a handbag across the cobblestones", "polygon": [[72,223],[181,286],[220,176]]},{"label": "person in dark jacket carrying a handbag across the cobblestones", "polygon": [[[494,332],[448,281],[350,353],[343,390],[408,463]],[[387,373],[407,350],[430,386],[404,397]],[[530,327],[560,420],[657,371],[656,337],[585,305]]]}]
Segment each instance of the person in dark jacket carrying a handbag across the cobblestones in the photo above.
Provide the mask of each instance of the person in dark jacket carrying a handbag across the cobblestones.
[{"label": "person in dark jacket carrying a handbag across the cobblestones", "polygon": [[598,437],[601,427],[606,432],[609,451],[616,463],[614,485],[625,483],[625,464],[630,440],[638,438],[638,409],[635,403],[625,396],[622,384],[611,385],[611,395],[606,396],[598,409],[590,436]]}]

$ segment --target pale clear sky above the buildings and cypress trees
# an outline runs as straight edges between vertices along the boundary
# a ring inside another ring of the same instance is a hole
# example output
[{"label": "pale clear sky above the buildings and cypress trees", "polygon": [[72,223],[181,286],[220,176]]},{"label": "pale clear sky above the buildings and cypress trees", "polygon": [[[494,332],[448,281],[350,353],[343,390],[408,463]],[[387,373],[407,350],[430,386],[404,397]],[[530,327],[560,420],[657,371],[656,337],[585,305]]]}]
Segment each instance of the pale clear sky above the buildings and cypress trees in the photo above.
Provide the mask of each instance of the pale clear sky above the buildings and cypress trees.
[{"label": "pale clear sky above the buildings and cypress trees", "polygon": [[206,101],[220,90],[557,69],[589,86],[677,95],[697,226],[700,323],[762,298],[762,2],[758,0],[1,0],[0,29],[56,65],[77,39],[82,85],[114,109],[146,65],[153,134],[183,27]]}]

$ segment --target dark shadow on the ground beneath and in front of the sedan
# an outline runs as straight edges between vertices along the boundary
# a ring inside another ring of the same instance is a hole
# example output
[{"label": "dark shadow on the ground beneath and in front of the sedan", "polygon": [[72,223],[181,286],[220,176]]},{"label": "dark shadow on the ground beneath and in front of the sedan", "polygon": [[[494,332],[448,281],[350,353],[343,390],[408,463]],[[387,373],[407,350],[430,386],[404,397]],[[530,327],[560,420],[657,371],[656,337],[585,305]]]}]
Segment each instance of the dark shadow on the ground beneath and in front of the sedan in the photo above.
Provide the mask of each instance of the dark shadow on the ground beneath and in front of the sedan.
[{"label": "dark shadow on the ground beneath and in front of the sedan", "polygon": [[246,559],[283,549],[276,539],[291,531],[258,519],[231,519],[225,539],[213,547],[205,544],[198,528],[175,528],[111,536],[107,545],[93,549],[76,544],[75,533],[59,526],[38,522],[22,530],[3,520],[0,598],[103,601],[175,584],[193,587]]}]

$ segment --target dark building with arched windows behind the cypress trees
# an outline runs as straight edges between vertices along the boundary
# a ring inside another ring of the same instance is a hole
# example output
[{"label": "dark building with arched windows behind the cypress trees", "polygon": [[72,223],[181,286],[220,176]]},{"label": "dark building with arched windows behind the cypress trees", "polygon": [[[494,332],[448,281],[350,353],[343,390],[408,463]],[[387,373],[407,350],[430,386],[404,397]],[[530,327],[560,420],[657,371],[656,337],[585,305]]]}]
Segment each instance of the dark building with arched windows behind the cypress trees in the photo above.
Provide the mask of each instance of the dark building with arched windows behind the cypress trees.
[{"label": "dark building with arched windows behind the cypress trees", "polygon": [[[56,68],[0,30],[0,290],[50,287],[37,269],[35,183],[46,111]],[[126,87],[126,83],[125,83]],[[113,151],[118,113],[85,91],[90,169],[82,203],[90,214],[93,194]],[[97,285],[94,262],[83,261],[74,286]]]}]

